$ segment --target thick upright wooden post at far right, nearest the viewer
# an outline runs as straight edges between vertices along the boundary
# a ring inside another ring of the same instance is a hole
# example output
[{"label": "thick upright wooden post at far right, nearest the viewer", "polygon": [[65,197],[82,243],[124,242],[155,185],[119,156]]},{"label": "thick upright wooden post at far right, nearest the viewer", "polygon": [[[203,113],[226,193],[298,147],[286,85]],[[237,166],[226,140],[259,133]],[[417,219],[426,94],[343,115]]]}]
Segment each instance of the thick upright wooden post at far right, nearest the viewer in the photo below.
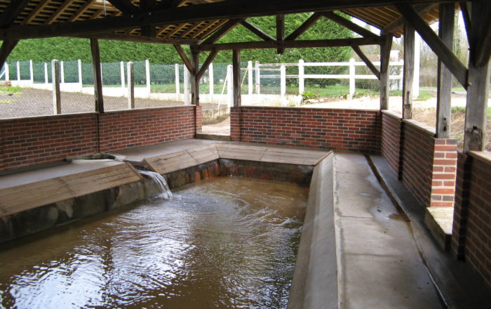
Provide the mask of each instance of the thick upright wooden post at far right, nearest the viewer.
[{"label": "thick upright wooden post at far right, nearest the viewer", "polygon": [[478,67],[473,60],[478,53],[479,42],[485,37],[487,0],[472,1],[471,48],[469,57],[469,87],[467,88],[466,122],[464,126],[464,153],[485,150],[487,127],[487,96],[490,86],[490,63]]}]

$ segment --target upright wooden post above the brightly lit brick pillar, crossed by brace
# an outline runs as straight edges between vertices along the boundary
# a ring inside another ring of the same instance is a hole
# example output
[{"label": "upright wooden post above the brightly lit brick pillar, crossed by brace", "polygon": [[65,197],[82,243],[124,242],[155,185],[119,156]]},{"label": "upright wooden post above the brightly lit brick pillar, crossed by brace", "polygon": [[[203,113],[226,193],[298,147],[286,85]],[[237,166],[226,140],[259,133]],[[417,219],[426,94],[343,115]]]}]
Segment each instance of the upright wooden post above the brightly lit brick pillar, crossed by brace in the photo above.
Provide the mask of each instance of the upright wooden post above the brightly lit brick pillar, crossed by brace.
[{"label": "upright wooden post above the brightly lit brick pillar, crossed by brace", "polygon": [[[438,36],[448,48],[453,48],[455,4],[440,4]],[[436,94],[436,138],[450,138],[452,117],[452,72],[438,61]]]}]

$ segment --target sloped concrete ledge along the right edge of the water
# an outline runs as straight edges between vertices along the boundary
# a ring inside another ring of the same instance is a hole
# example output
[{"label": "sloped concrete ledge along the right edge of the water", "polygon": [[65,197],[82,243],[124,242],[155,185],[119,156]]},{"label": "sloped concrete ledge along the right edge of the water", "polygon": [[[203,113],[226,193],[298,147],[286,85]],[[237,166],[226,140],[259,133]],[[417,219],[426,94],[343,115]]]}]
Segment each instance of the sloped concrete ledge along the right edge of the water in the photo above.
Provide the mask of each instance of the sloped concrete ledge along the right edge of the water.
[{"label": "sloped concrete ledge along the right edge of the water", "polygon": [[289,309],[338,308],[332,157],[330,152],[312,175]]}]

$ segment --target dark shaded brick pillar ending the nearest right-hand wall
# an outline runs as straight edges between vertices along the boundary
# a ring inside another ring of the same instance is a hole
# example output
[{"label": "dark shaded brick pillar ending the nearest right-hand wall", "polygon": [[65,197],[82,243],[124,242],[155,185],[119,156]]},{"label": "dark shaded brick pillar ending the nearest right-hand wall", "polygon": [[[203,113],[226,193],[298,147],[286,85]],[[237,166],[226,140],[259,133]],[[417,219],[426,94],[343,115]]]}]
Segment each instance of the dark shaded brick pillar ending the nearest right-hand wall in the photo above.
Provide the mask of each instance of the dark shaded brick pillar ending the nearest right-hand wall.
[{"label": "dark shaded brick pillar ending the nearest right-hand wall", "polygon": [[454,221],[452,226],[452,254],[464,259],[467,213],[471,188],[472,157],[459,152],[457,159],[457,185],[455,189]]}]

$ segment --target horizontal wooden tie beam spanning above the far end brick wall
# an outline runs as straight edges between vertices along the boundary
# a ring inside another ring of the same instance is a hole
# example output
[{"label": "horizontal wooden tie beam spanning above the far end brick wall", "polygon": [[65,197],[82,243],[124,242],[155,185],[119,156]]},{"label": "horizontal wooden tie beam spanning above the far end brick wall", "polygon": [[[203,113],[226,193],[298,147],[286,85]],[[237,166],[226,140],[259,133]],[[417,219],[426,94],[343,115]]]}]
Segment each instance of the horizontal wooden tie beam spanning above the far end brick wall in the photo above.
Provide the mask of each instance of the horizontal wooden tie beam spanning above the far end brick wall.
[{"label": "horizontal wooden tie beam spanning above the far end brick wall", "polygon": [[234,49],[268,49],[268,48],[309,48],[339,47],[382,44],[384,37],[362,37],[353,39],[327,39],[305,41],[256,41],[223,44],[201,44],[196,46],[199,51],[233,51]]}]

